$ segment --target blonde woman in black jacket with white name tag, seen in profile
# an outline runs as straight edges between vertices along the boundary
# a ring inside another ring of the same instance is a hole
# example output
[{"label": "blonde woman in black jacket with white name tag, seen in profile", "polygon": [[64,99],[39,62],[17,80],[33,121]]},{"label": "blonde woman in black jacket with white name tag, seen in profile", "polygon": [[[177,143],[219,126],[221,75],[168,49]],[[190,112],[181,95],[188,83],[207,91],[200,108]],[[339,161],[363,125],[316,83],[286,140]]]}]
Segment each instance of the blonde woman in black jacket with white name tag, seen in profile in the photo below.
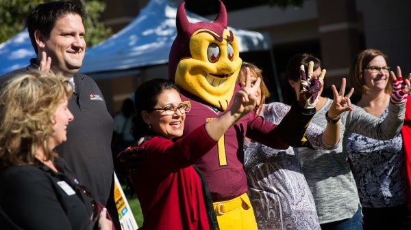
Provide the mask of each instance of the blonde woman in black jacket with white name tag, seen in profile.
[{"label": "blonde woman in black jacket with white name tag, seen in profile", "polygon": [[88,189],[55,152],[74,118],[68,83],[30,70],[1,88],[1,229],[112,229],[107,211],[98,213]]}]

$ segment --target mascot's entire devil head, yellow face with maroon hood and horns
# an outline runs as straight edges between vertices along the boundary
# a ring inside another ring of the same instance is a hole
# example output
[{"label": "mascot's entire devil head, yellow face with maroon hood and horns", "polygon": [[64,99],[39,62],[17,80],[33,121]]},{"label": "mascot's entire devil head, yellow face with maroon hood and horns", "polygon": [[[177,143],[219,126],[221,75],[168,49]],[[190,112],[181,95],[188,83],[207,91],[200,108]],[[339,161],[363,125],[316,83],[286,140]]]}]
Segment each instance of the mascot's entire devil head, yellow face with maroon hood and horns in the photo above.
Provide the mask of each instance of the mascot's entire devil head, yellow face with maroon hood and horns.
[{"label": "mascot's entire devil head, yellow face with maroon hood and horns", "polygon": [[232,99],[242,60],[238,42],[227,29],[222,1],[212,23],[190,23],[184,1],[176,16],[177,36],[169,55],[169,79],[176,85],[225,110]]}]

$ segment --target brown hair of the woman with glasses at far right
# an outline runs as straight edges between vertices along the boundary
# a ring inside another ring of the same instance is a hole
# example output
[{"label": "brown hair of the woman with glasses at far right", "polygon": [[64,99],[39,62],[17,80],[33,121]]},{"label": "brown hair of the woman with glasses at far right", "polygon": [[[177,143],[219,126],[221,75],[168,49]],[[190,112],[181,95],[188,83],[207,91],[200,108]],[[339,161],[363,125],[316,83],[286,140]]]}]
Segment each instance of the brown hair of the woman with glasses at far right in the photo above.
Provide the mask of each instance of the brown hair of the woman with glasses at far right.
[{"label": "brown hair of the woman with glasses at far right", "polygon": [[[387,61],[387,55],[384,55],[381,51],[378,51],[373,48],[366,49],[361,51],[356,56],[356,59],[353,60],[351,68],[349,68],[349,81],[354,87],[354,92],[358,95],[369,94],[371,89],[366,86],[364,76],[362,75],[362,70],[372,61],[375,57],[382,56]],[[393,91],[393,83],[389,77],[389,82],[386,85],[385,92],[389,94]]]}]

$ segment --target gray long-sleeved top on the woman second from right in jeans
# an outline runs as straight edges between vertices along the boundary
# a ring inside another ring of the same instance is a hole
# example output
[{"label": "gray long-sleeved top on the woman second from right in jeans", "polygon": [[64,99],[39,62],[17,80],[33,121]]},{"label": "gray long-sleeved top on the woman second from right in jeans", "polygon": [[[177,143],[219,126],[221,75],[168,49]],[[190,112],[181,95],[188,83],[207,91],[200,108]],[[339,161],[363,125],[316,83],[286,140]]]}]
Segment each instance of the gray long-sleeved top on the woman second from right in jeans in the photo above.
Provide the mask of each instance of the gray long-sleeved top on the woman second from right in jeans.
[{"label": "gray long-sleeved top on the woman second from right in jeans", "polygon": [[[332,100],[327,102],[312,122],[325,128],[325,113]],[[351,218],[358,210],[360,199],[353,174],[343,152],[343,134],[355,132],[373,139],[392,139],[400,130],[406,111],[406,104],[390,103],[386,119],[370,115],[364,109],[354,106],[354,110],[341,115],[340,146],[334,150],[295,148],[314,197],[321,224]]]}]

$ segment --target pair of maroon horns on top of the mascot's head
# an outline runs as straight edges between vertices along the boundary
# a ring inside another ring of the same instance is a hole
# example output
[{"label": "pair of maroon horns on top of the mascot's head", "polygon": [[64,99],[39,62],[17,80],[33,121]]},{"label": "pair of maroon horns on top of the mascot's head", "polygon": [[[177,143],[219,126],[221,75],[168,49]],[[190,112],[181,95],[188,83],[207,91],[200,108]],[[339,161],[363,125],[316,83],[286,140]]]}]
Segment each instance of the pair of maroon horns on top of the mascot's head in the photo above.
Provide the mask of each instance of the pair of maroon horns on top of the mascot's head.
[{"label": "pair of maroon horns on top of the mascot's head", "polygon": [[[213,23],[217,23],[219,25],[223,25],[224,28],[227,28],[227,11],[225,10],[225,5],[220,0],[220,10],[219,14],[217,14],[216,19]],[[176,24],[177,24],[177,33],[180,34],[192,34],[198,28],[191,27],[191,23],[188,21],[186,10],[185,10],[185,2],[182,2],[178,9],[177,9],[177,16],[176,16]],[[189,31],[193,29],[193,31]]]}]

